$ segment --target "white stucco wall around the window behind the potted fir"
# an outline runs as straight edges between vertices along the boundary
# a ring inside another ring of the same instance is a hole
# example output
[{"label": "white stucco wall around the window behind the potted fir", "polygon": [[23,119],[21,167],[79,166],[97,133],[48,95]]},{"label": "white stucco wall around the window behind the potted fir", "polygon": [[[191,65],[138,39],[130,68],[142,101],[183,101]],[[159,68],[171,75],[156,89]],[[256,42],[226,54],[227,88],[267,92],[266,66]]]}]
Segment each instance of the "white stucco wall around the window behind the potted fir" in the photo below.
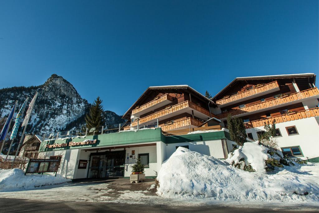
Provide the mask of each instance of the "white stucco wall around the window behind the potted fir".
[{"label": "white stucco wall around the window behind the potted fir", "polygon": [[[135,156],[138,158],[138,154],[149,153],[149,168],[145,168],[145,176],[156,176],[157,175],[157,150],[156,146],[145,146],[145,147],[133,147],[126,148],[126,154],[132,155],[132,150],[135,150]],[[133,164],[125,164],[124,177],[130,177],[132,173]]]}]

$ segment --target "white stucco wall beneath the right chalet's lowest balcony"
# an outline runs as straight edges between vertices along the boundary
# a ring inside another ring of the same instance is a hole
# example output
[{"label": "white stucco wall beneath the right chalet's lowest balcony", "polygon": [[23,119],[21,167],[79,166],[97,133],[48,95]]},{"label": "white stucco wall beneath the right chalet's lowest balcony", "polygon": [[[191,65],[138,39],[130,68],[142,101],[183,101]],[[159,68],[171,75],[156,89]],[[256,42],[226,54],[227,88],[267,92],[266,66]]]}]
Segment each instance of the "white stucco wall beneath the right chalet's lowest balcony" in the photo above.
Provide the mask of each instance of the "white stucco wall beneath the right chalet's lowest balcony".
[{"label": "white stucco wall beneath the right chalet's lowest balcony", "polygon": [[[287,126],[296,126],[299,134],[290,135],[286,131]],[[319,156],[319,126],[316,121],[316,117],[303,118],[294,121],[288,121],[276,124],[276,128],[279,128],[282,137],[275,137],[278,142],[278,146],[281,147],[292,147],[300,146],[304,157],[301,159],[310,159]],[[258,140],[257,131],[264,131],[262,127],[247,129],[247,133],[252,133],[254,140]],[[281,150],[280,150],[281,151]]]}]

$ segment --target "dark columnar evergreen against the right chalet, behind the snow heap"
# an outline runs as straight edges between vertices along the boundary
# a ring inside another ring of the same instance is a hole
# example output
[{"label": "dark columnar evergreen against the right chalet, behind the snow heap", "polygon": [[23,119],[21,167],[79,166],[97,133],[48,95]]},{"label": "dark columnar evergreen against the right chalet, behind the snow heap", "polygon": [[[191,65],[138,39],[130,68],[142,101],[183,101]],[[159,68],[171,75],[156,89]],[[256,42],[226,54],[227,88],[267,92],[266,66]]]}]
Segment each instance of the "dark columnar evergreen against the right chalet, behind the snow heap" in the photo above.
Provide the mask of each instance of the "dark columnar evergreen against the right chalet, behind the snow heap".
[{"label": "dark columnar evergreen against the right chalet, behind the snow heap", "polygon": [[232,119],[231,114],[228,114],[227,125],[232,141],[235,141],[238,146],[243,146],[247,138],[246,128],[244,126],[243,120],[237,117]]}]

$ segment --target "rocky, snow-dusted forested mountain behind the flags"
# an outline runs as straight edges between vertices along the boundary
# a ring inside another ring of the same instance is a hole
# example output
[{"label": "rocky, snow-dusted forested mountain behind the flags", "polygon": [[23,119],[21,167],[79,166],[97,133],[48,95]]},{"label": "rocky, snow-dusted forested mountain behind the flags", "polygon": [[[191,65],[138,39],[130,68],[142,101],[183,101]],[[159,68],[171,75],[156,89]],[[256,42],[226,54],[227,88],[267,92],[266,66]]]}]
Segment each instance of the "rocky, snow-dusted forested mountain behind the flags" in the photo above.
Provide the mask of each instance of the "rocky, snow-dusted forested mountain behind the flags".
[{"label": "rocky, snow-dusted forested mountain behind the flags", "polygon": [[[40,86],[0,89],[0,120],[9,114],[16,100],[17,113],[26,97],[29,97],[30,102],[36,92],[39,94],[26,133],[49,134],[79,128],[85,123],[85,113],[88,112],[90,104],[81,98],[70,82],[56,74]],[[124,121],[112,111],[105,111],[105,118],[105,125]],[[21,127],[19,132],[22,132]]]}]

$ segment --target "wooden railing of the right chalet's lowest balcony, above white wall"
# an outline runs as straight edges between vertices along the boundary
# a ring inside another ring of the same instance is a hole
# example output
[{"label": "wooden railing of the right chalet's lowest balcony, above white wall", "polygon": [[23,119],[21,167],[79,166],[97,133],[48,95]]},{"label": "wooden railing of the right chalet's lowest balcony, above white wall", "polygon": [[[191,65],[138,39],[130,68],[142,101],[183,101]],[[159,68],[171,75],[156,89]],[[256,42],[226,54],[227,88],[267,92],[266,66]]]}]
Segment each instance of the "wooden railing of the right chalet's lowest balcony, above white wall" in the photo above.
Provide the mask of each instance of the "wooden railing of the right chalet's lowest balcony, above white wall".
[{"label": "wooden railing of the right chalet's lowest balcony, above white wall", "polygon": [[245,122],[244,125],[246,129],[259,127],[259,126],[265,126],[265,123],[272,124],[273,120],[276,121],[276,124],[287,122],[287,121],[293,121],[293,120],[299,120],[302,118],[310,118],[319,116],[319,109],[313,108],[309,110],[302,110],[297,112],[289,112],[285,115],[278,115],[271,118],[264,118],[256,121],[249,121]]}]

